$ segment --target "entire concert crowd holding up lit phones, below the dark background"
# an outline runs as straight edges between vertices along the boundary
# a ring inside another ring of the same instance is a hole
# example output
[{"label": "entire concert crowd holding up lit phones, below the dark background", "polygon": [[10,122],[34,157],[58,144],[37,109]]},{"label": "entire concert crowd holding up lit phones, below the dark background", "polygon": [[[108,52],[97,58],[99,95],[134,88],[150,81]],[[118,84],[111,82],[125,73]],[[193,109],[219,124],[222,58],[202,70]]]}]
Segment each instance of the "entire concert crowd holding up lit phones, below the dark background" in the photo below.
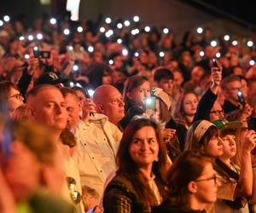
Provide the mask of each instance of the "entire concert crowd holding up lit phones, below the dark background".
[{"label": "entire concert crowd holding up lit phones, below the dark background", "polygon": [[0,24],[0,212],[256,212],[251,38]]}]

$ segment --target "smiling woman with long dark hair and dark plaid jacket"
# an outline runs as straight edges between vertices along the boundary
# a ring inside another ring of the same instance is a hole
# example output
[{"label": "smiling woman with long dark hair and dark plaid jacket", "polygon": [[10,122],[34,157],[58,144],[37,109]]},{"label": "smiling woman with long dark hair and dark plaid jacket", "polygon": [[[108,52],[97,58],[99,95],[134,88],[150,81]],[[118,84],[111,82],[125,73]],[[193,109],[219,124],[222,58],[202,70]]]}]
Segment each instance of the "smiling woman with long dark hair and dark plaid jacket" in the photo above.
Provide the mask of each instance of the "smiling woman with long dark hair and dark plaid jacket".
[{"label": "smiling woman with long dark hair and dark plaid jacket", "polygon": [[153,121],[141,118],[128,124],[117,164],[104,193],[104,212],[148,212],[165,198],[166,148]]}]

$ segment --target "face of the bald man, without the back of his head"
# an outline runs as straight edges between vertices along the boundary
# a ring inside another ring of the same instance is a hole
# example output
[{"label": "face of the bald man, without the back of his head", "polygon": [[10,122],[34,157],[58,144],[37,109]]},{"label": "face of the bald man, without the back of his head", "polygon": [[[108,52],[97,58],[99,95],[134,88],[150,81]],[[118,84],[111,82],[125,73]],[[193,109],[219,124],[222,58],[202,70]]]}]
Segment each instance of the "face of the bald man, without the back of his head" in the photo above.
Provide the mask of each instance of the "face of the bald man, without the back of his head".
[{"label": "face of the bald man, without the back of his head", "polygon": [[102,110],[113,124],[117,124],[125,117],[125,103],[118,89],[109,89],[108,95],[103,97]]}]

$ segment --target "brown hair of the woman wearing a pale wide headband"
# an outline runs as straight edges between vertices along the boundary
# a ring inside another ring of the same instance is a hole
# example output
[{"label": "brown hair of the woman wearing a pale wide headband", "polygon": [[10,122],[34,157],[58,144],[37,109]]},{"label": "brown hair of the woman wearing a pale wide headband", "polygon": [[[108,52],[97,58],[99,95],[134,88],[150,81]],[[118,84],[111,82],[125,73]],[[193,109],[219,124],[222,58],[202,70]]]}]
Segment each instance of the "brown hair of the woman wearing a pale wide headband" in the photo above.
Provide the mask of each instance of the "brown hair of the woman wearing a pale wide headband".
[{"label": "brown hair of the woman wearing a pale wide headband", "polygon": [[195,121],[190,125],[186,135],[185,150],[205,150],[212,137],[218,136],[218,128],[214,124],[209,126],[201,137],[196,135],[195,130],[203,121],[204,120]]}]

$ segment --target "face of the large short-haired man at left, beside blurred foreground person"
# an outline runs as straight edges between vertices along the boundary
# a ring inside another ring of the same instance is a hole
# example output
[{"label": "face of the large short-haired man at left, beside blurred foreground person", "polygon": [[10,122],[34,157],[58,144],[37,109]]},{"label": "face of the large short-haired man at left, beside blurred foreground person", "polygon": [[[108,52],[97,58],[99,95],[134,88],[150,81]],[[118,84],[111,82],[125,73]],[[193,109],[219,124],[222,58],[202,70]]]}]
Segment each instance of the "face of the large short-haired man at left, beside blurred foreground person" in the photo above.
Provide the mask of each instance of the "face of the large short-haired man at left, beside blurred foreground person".
[{"label": "face of the large short-haired man at left, beside blurred foreground person", "polygon": [[64,130],[66,128],[67,110],[60,90],[45,88],[32,101],[34,120],[54,130]]}]

